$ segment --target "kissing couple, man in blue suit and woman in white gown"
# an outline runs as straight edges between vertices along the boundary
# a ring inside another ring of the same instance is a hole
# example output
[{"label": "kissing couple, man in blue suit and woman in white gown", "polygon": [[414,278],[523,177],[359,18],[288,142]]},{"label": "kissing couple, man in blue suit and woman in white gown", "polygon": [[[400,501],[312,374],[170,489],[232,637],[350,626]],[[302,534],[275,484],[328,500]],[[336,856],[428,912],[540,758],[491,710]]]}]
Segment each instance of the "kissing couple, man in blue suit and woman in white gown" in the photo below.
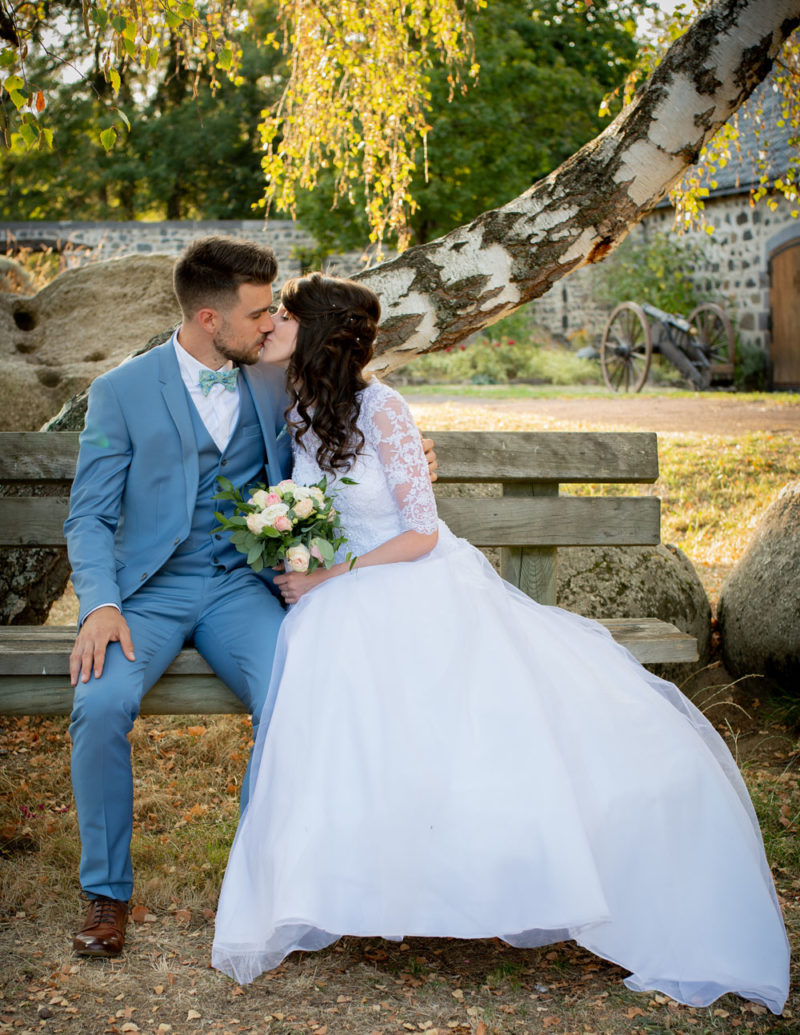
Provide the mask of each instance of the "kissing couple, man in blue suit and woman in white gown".
[{"label": "kissing couple, man in blue suit and woman in white gown", "polygon": [[[192,643],[254,719],[212,950],[237,981],[343,935],[572,939],[633,989],[779,1013],[786,930],[721,738],[438,520],[408,407],[366,373],[378,297],[314,273],[273,315],[275,274],[268,249],[197,242],[173,339],[90,391],[66,523],[91,899],[76,951],[122,948],[126,735]],[[348,541],[329,568],[256,573],[210,534],[216,478],[290,474],[327,479]]]}]

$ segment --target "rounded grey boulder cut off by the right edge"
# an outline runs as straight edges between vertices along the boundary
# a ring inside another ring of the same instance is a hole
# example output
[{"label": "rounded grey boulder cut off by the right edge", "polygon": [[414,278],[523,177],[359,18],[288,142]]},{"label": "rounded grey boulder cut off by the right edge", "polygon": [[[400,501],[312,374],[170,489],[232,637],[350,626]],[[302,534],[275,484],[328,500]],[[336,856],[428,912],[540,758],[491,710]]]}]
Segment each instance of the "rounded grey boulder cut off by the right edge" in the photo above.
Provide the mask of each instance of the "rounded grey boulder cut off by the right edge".
[{"label": "rounded grey boulder cut off by the right edge", "polygon": [[800,697],[800,481],[767,508],[719,599],[725,668]]}]

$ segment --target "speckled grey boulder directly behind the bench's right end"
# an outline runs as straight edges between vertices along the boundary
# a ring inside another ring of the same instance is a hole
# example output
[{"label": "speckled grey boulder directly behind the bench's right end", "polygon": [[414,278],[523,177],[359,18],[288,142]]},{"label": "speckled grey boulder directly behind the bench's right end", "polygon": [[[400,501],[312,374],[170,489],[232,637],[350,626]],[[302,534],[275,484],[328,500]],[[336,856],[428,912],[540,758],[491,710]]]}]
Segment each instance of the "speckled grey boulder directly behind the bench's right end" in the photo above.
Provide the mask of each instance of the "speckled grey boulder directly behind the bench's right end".
[{"label": "speckled grey boulder directly behind the bench's right end", "polygon": [[558,552],[559,607],[587,618],[659,618],[698,641],[700,660],[648,666],[682,683],[711,653],[711,607],[677,546],[576,546]]}]

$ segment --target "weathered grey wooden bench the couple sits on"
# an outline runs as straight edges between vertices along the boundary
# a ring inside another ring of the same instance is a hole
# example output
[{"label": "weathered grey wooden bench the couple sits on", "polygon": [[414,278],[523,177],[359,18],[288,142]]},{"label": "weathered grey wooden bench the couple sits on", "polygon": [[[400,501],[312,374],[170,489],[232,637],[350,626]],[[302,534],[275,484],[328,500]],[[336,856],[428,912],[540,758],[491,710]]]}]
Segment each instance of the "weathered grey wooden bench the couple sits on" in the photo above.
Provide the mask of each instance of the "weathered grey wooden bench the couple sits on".
[{"label": "weathered grey wooden bench the couple sits on", "polygon": [[[556,602],[559,546],[652,545],[659,541],[653,496],[559,495],[566,483],[652,483],[658,477],[650,433],[437,432],[440,483],[499,483],[502,495],[439,500],[441,516],[476,546],[501,548],[505,579],[541,603]],[[14,483],[31,495],[0,497],[0,545],[62,546],[64,498],[36,496],[75,474],[73,433],[0,433],[0,491]],[[432,616],[435,618],[435,616]],[[609,619],[614,638],[642,662],[693,661],[695,641],[656,619]],[[66,715],[72,692],[71,626],[0,627],[0,714]],[[144,700],[144,714],[243,711],[241,703],[194,649],[180,652]]]}]

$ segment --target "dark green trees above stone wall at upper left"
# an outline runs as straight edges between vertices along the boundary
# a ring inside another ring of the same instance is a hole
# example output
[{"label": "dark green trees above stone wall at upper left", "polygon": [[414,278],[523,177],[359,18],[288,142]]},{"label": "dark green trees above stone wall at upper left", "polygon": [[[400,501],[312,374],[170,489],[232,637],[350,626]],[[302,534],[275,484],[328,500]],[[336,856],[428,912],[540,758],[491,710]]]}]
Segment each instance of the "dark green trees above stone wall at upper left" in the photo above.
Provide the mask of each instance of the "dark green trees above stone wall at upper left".
[{"label": "dark green trees above stone wall at upper left", "polygon": [[[225,78],[214,87],[205,64],[182,56],[175,37],[155,69],[123,59],[114,97],[80,7],[64,10],[58,59],[42,52],[30,62],[31,78],[47,87],[58,146],[29,149],[12,135],[11,147],[0,150],[0,217],[250,217],[263,193],[259,120],[282,90],[273,82],[280,55],[259,43],[272,24],[273,4],[253,5],[236,35],[236,83]],[[65,60],[83,78],[64,82]],[[131,128],[107,150],[100,137],[114,124],[112,102]]]}]

